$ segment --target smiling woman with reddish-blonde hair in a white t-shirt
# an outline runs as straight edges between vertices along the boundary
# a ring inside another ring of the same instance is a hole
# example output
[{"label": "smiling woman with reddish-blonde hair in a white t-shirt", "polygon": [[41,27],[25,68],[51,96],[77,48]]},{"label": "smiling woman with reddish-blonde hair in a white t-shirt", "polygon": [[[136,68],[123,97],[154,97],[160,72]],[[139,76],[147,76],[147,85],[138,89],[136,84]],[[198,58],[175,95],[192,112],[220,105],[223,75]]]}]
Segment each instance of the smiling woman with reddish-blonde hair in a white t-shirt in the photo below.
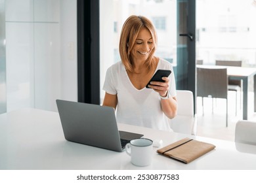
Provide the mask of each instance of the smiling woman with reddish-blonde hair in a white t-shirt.
[{"label": "smiling woman with reddish-blonde hair in a white t-shirt", "polygon": [[[154,56],[157,35],[144,16],[130,16],[119,41],[121,61],[108,68],[103,105],[114,107],[117,122],[170,131],[168,118],[177,114],[176,86],[171,63]],[[158,69],[169,69],[165,82],[146,84]]]}]

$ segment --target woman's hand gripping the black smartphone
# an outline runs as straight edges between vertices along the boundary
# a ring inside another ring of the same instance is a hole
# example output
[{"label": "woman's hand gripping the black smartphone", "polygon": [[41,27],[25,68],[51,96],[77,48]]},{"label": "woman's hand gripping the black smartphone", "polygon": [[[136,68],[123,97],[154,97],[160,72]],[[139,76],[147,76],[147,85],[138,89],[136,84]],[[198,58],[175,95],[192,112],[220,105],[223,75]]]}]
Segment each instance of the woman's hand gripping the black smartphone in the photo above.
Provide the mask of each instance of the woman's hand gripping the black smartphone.
[{"label": "woman's hand gripping the black smartphone", "polygon": [[148,87],[152,88],[154,91],[158,92],[162,97],[166,97],[169,90],[169,78],[162,77],[165,82],[152,81]]}]

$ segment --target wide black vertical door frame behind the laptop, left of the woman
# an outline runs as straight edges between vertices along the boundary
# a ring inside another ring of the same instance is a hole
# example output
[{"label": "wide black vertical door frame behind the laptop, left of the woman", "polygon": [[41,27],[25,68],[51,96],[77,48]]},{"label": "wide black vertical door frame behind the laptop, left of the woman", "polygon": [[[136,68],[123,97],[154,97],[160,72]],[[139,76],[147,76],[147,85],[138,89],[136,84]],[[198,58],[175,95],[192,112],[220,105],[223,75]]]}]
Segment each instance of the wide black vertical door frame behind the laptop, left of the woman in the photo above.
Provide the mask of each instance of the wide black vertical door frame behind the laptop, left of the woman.
[{"label": "wide black vertical door frame behind the laptop, left of the woman", "polygon": [[77,82],[77,101],[99,105],[99,0],[77,0]]}]

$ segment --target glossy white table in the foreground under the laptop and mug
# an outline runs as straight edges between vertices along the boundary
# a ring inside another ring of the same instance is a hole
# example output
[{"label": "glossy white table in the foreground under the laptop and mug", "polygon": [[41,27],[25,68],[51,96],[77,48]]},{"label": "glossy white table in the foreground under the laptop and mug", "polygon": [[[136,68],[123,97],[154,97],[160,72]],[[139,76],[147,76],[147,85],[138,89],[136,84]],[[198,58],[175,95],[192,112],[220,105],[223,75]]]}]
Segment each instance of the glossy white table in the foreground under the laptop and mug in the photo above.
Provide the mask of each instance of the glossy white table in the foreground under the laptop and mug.
[{"label": "glossy white table in the foreground under the laptop and mug", "polygon": [[163,146],[184,137],[215,144],[215,150],[184,164],[156,153],[148,167],[136,167],[125,152],[114,152],[64,139],[57,112],[24,108],[0,115],[0,169],[252,169],[256,146],[181,133],[118,124],[120,130],[162,139]]}]

